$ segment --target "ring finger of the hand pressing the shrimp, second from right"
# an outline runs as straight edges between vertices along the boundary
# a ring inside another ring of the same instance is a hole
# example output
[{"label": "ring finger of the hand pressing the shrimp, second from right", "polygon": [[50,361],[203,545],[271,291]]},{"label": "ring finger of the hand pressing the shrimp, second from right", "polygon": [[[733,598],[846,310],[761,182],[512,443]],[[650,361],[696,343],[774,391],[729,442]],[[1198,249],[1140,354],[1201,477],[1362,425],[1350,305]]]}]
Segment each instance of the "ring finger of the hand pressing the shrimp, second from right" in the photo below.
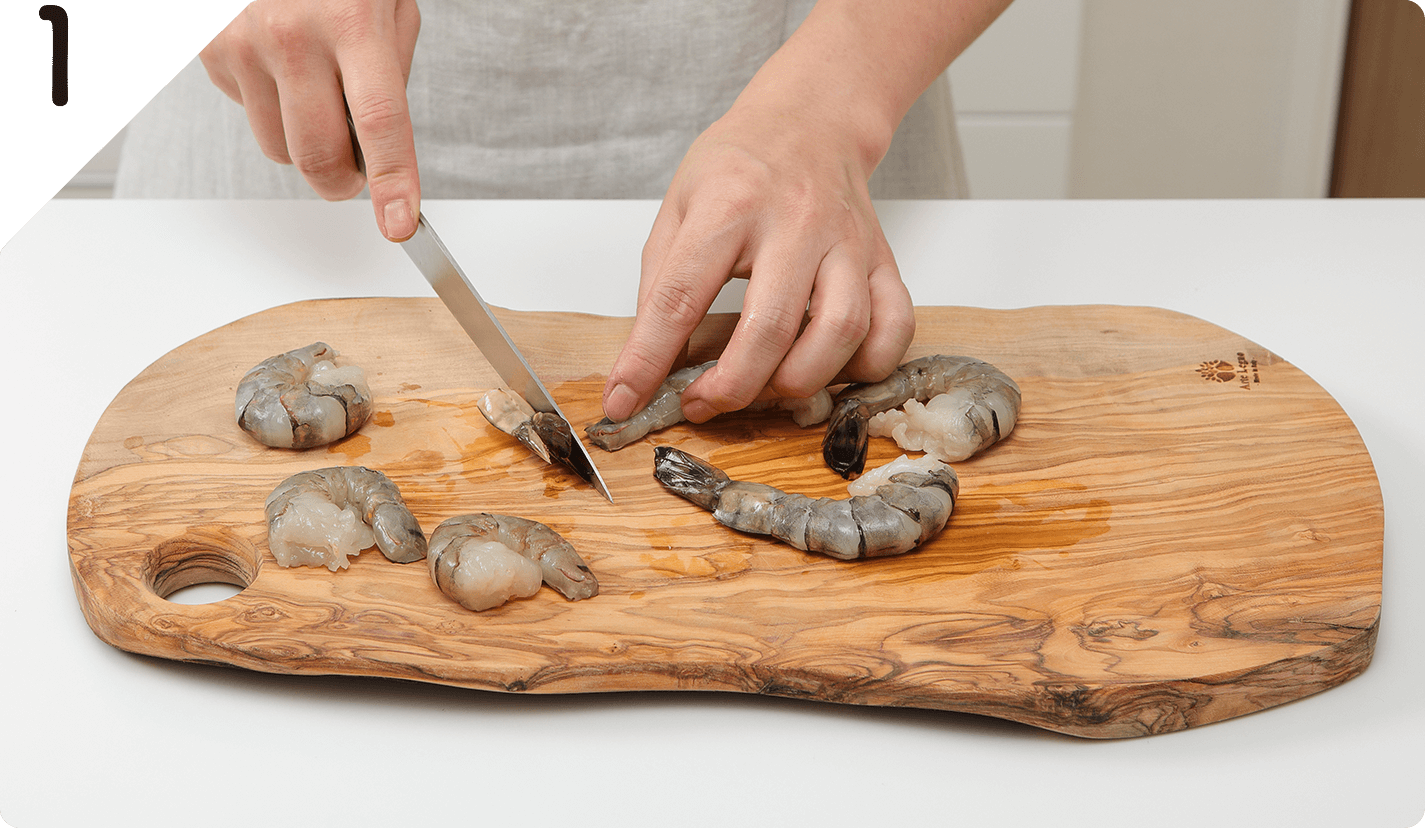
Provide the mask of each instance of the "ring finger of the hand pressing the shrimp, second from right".
[{"label": "ring finger of the hand pressing the shrimp, second from right", "polygon": [[845,245],[821,261],[808,322],[768,385],[778,396],[804,398],[831,385],[871,329],[871,291],[864,257]]}]

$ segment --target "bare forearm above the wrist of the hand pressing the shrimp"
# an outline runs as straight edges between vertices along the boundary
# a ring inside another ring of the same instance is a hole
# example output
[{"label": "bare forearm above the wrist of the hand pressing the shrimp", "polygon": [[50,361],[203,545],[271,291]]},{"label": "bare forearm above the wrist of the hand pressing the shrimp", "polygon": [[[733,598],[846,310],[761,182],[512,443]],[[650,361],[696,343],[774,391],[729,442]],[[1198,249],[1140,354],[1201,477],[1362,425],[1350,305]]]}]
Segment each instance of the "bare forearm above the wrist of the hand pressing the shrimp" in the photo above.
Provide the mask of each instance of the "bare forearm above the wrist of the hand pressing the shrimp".
[{"label": "bare forearm above the wrist of the hand pressing the shrimp", "polygon": [[740,105],[795,108],[881,161],[922,91],[1010,0],[819,0],[757,73]]}]

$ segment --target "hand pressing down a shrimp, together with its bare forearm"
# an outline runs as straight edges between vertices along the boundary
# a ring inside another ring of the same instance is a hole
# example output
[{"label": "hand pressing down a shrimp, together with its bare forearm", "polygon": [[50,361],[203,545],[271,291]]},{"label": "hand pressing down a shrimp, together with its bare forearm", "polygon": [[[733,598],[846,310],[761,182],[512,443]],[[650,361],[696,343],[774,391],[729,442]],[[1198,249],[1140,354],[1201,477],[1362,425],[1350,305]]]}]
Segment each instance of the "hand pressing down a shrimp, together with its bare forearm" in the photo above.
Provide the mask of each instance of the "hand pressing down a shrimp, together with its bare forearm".
[{"label": "hand pressing down a shrimp, together with its bare forearm", "polygon": [[730,278],[748,279],[742,318],[684,393],[691,422],[901,362],[915,314],[868,181],[915,100],[1007,3],[812,7],[673,177],[604,388],[610,420],[647,405]]}]

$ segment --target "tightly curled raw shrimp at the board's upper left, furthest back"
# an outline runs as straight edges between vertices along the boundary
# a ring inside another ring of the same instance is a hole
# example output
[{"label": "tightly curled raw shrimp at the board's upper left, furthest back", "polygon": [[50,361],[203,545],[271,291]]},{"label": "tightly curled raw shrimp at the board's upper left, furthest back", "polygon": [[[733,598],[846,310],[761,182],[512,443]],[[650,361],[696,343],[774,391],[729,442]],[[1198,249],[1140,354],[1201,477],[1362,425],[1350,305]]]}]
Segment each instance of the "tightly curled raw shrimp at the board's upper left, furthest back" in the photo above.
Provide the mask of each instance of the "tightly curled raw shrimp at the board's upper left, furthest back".
[{"label": "tightly curled raw shrimp at the board's upper left, furthest back", "polygon": [[259,362],[238,383],[238,425],[278,449],[311,449],[359,429],[372,410],[366,375],[335,359],[314,342]]}]

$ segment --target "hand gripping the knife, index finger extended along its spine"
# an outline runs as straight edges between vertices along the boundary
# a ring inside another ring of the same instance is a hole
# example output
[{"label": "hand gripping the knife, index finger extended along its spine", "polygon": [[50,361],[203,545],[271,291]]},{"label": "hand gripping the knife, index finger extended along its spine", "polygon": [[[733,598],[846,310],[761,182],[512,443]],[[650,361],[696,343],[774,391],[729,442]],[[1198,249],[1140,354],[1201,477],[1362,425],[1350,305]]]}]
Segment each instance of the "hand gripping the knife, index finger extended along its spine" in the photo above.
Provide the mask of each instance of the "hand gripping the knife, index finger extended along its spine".
[{"label": "hand gripping the knife, index finger extended along its spine", "polygon": [[254,0],[200,58],[212,83],[247,110],[268,158],[294,164],[326,200],[353,198],[369,182],[376,225],[402,241],[416,231],[420,211],[406,107],[419,30],[415,0]]}]

